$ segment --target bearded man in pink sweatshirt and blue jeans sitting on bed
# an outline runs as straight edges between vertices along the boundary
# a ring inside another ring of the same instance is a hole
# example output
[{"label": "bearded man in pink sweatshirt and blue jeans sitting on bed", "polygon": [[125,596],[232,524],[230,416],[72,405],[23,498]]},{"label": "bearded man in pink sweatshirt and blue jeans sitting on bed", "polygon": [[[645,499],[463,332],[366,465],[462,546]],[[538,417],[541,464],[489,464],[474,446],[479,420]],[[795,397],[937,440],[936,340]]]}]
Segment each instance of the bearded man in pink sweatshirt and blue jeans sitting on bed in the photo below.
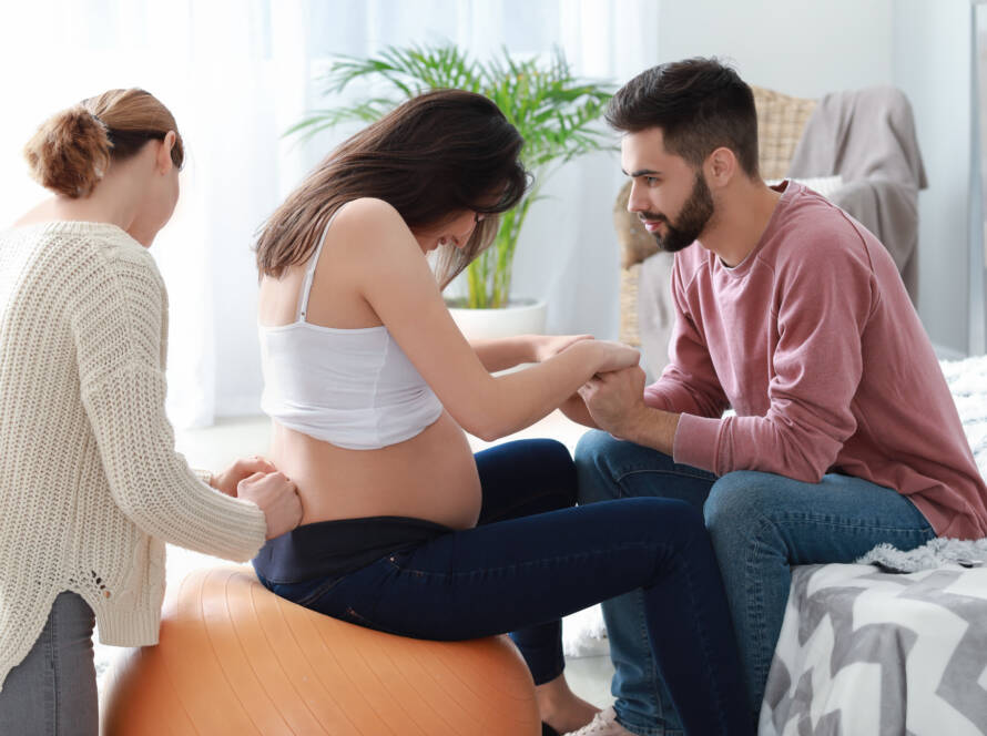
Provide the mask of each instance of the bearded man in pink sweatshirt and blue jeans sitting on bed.
[{"label": "bearded man in pink sweatshirt and blue jeans sitting on bed", "polygon": [[[762,181],[754,99],[736,72],[708,59],[655,67],[607,117],[623,133],[628,209],[675,252],[676,320],[657,382],[631,368],[567,402],[604,430],[577,448],[580,502],[703,508],[756,714],[790,565],[981,538],[987,488],[891,256],[818,194]],[[603,613],[617,701],[577,733],[681,734],[640,594]]]}]

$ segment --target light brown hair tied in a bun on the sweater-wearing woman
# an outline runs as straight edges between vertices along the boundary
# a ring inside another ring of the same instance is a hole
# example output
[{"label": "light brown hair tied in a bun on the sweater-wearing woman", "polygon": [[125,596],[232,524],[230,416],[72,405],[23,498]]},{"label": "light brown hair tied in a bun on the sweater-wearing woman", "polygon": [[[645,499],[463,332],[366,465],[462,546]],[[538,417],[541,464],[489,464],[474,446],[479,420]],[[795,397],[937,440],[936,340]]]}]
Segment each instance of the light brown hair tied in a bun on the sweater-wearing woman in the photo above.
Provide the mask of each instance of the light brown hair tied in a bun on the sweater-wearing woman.
[{"label": "light brown hair tied in a bun on the sweater-wearing woman", "polygon": [[111,161],[138,153],[150,140],[175,132],[171,157],[182,167],[185,152],[175,119],[157,98],[132,88],[109,90],[55,113],[24,146],[31,176],[70,197],[84,197]]}]

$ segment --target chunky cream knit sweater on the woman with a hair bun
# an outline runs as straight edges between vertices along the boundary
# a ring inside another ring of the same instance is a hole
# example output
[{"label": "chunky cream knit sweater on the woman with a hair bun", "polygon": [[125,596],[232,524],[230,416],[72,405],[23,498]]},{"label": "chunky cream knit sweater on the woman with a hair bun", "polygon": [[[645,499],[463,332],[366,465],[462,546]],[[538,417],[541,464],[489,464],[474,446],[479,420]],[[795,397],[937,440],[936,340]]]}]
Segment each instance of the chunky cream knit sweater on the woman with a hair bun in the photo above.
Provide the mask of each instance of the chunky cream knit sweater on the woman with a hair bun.
[{"label": "chunky cream knit sweater on the woman with a hair bun", "polygon": [[119,227],[0,232],[0,688],[61,591],[104,644],[155,644],[165,542],[236,561],[264,543],[263,512],[174,450],[166,335],[164,283]]}]

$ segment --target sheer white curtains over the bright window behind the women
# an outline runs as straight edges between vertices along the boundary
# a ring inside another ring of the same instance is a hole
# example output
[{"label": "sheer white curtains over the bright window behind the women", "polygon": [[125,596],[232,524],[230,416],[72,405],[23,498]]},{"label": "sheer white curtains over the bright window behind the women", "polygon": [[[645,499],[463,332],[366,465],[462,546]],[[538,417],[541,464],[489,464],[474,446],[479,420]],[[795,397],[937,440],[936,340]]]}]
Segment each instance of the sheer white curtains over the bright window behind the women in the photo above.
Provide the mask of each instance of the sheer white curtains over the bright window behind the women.
[{"label": "sheer white curtains over the bright window behind the women", "polygon": [[[451,41],[485,59],[560,47],[581,75],[625,81],[658,59],[657,0],[38,0],[0,23],[0,223],[44,196],[20,149],[52,112],[142,86],[175,114],[187,149],[182,198],[155,242],[169,286],[169,411],[176,425],[256,413],[261,392],[254,234],[336,143],[282,133],[332,104],[318,75],[336,54]],[[607,152],[567,164],[532,207],[515,293],[547,298],[549,330],[612,338],[621,183]]]}]

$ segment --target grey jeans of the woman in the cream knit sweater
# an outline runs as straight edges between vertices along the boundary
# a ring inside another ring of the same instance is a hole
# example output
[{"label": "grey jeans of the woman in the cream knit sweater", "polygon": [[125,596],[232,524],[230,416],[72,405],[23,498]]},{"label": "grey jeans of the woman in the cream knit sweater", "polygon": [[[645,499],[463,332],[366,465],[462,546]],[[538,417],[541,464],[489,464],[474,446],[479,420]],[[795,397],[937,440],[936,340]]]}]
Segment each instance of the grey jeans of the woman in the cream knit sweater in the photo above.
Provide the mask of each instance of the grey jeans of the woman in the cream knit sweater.
[{"label": "grey jeans of the woman in the cream knit sweater", "polygon": [[75,593],[54,600],[30,653],[0,692],[0,734],[95,736],[99,732],[92,609]]}]

